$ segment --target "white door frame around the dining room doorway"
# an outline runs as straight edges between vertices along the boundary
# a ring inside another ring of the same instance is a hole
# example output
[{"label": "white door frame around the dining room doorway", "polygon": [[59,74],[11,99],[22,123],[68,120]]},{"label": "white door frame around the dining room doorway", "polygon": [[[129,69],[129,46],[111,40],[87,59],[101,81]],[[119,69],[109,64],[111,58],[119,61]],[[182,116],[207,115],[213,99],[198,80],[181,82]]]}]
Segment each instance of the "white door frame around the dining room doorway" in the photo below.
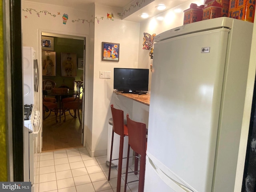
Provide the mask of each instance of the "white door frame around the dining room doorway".
[{"label": "white door frame around the dining room doorway", "polygon": [[[61,37],[61,38],[76,38],[76,39],[80,39],[80,40],[84,40],[84,73],[83,73],[83,78],[84,78],[84,83],[83,83],[83,116],[82,116],[82,133],[81,133],[81,141],[83,146],[85,147],[86,144],[86,129],[84,129],[86,126],[84,126],[87,122],[87,108],[88,108],[88,40],[86,41],[86,39],[88,39],[87,35],[83,35],[83,34],[72,34],[72,33],[65,33],[65,32],[60,32],[60,31],[52,31],[52,30],[44,30],[44,29],[40,29],[38,30],[38,67],[39,69],[42,69],[42,46],[41,46],[41,42],[42,42],[42,33],[49,33],[49,34],[55,34],[56,37]],[[42,70],[39,70],[39,88],[41,88],[41,91],[39,92],[39,109],[40,109],[40,114],[42,114],[43,112],[43,106],[42,106]],[[42,116],[40,116],[41,122],[42,122]],[[42,131],[43,131],[43,127],[40,130],[40,140],[39,140],[39,152],[42,152]]]}]

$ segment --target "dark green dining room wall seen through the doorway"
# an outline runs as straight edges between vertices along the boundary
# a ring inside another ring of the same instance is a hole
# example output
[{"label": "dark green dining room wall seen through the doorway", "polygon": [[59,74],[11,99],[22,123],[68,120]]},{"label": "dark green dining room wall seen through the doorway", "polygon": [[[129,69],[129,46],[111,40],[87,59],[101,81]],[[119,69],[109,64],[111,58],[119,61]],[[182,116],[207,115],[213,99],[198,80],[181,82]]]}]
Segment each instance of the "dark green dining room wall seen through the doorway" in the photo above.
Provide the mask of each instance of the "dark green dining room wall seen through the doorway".
[{"label": "dark green dining room wall seen through the doorway", "polygon": [[[56,86],[68,86],[73,88],[74,80],[81,80],[84,70],[78,69],[78,58],[84,57],[84,40],[54,37],[54,51],[56,52],[56,76],[43,76],[43,79],[51,79]],[[61,53],[76,54],[76,77],[61,76]]]}]

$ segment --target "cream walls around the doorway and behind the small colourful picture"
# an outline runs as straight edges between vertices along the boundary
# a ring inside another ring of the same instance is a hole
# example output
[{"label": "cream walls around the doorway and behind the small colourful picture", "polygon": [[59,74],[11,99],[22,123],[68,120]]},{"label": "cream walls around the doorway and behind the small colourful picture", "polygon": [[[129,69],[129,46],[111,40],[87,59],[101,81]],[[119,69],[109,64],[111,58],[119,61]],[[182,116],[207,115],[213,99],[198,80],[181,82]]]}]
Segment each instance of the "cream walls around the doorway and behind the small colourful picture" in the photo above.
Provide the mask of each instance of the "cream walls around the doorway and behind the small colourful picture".
[{"label": "cream walls around the doorway and behind the small colourful picture", "polygon": [[[88,11],[86,11],[86,9]],[[91,156],[106,154],[108,119],[111,118],[110,104],[113,103],[113,69],[114,67],[138,67],[139,23],[122,21],[116,14],[120,10],[94,5],[84,10],[67,6],[56,6],[43,3],[22,1],[22,36],[23,45],[32,46],[36,50],[39,68],[42,68],[40,32],[86,36],[86,63],[88,70],[85,88],[88,101],[85,111],[86,148]],[[46,10],[46,14],[41,12]],[[106,19],[107,13],[114,13],[114,20]],[[51,16],[50,14],[55,16]],[[62,15],[68,14],[68,21],[63,24]],[[39,16],[38,16],[39,14]],[[104,17],[104,19],[97,18]],[[96,19],[94,19],[96,18]],[[84,19],[84,23],[82,20]],[[89,23],[90,24],[89,24]],[[92,23],[94,22],[94,23]],[[120,43],[119,62],[101,61],[102,42]],[[110,71],[110,79],[100,79],[100,70]],[[42,76],[42,70],[40,70]],[[39,82],[42,87],[42,80]],[[38,96],[41,106],[42,90]],[[128,101],[131,102],[131,101]],[[122,106],[122,104],[121,104]],[[128,112],[132,112],[132,105]],[[41,107],[42,108],[42,107]],[[122,107],[126,108],[126,107]],[[42,109],[41,109],[42,110]]]}]

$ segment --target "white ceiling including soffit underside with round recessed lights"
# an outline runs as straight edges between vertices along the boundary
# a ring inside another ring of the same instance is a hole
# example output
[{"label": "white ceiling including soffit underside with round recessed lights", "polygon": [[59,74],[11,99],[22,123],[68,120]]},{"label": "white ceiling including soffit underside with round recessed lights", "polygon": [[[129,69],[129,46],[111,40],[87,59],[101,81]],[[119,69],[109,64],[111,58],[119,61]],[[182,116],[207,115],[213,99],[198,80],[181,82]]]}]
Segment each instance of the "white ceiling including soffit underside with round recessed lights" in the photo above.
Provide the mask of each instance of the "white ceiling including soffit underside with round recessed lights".
[{"label": "white ceiling including soffit underside with round recessed lights", "polygon": [[[31,2],[40,2],[42,3],[42,0],[26,0]],[[160,14],[161,12],[164,12],[166,10],[169,10],[171,8],[174,8],[182,3],[188,2],[190,0],[150,0],[152,1],[150,4],[146,6],[140,7],[140,10],[130,14],[130,15],[124,15],[123,19],[133,22],[142,22],[143,18],[141,18],[139,15],[146,12],[149,14],[149,18],[156,16]],[[43,3],[46,4],[54,4],[54,5],[60,5],[60,6],[69,6],[72,8],[77,9],[85,9],[89,4],[95,3],[100,4],[104,6],[111,6],[116,8],[126,8],[127,6],[130,6],[131,4],[136,4],[138,0],[44,0]],[[158,4],[165,4],[166,10],[159,11],[155,8]]]}]

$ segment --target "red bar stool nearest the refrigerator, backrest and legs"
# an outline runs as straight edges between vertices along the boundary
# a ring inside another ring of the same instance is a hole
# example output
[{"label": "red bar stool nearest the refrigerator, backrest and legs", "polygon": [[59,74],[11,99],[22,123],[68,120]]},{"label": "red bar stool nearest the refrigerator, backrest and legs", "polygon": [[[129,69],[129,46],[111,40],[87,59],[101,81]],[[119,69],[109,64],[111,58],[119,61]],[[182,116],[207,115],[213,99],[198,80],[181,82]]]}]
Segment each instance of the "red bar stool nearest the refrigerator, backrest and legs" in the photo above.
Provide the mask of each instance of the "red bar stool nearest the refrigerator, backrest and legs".
[{"label": "red bar stool nearest the refrigerator, backrest and legs", "polygon": [[[146,149],[147,149],[147,129],[146,124],[135,122],[129,118],[129,114],[126,115],[127,127],[128,127],[128,151],[130,153],[130,147],[135,153],[140,154],[140,176],[139,176],[139,188],[138,192],[144,191],[145,181],[145,168],[146,168]],[[126,192],[127,176],[128,176],[128,164],[129,158],[126,162],[126,173],[124,182],[124,192]]]}]

